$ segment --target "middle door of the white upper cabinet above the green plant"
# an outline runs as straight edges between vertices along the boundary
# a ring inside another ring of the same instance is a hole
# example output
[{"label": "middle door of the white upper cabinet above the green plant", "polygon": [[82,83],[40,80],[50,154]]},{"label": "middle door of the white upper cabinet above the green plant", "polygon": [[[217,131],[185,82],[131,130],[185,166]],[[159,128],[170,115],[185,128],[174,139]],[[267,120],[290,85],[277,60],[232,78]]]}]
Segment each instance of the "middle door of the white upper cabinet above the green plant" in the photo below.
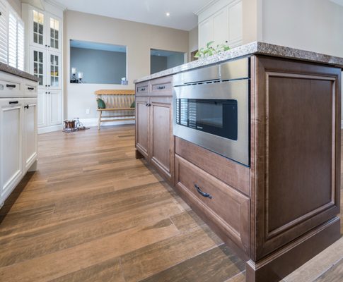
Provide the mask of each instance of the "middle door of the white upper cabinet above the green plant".
[{"label": "middle door of the white upper cabinet above the green plant", "polygon": [[217,44],[227,44],[228,42],[228,9],[222,8],[214,14],[213,23],[213,40],[214,46]]}]

